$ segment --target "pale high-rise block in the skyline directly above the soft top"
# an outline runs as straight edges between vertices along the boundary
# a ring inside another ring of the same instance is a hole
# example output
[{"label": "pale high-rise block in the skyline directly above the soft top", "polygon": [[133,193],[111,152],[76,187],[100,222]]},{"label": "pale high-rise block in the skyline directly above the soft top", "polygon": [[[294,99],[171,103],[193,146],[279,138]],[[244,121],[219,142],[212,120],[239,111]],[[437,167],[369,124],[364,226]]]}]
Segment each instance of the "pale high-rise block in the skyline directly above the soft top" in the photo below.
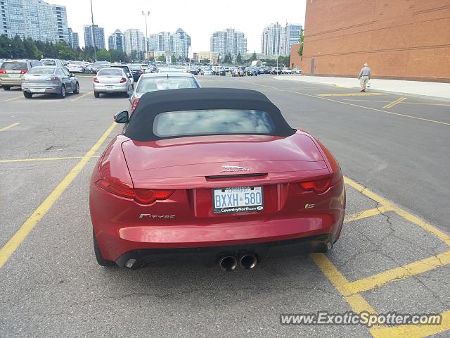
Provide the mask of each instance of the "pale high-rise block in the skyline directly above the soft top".
[{"label": "pale high-rise block in the skyline directly above the soft top", "polygon": [[214,32],[210,39],[210,51],[220,53],[222,57],[227,54],[233,58],[238,54],[244,55],[247,52],[247,38],[243,32],[233,28]]}]

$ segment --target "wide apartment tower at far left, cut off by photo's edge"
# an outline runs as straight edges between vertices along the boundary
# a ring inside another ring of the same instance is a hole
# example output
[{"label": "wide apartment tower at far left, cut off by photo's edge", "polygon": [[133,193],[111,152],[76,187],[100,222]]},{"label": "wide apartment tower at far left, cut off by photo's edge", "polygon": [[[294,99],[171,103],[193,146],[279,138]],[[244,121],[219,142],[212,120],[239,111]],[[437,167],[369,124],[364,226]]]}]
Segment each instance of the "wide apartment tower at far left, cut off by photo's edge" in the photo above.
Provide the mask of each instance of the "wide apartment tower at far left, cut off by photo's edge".
[{"label": "wide apartment tower at far left, cut off by photo's edge", "polygon": [[41,41],[69,41],[65,6],[44,0],[0,0],[0,35]]}]

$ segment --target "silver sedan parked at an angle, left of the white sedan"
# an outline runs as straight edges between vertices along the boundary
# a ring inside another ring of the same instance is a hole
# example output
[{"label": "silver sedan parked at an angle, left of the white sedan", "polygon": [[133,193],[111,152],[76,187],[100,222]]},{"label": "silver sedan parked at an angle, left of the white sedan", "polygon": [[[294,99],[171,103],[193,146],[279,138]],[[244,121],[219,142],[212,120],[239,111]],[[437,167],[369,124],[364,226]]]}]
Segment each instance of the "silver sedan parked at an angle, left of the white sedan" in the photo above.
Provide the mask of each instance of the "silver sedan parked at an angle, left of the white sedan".
[{"label": "silver sedan parked at an angle, left of the white sedan", "polygon": [[79,94],[79,83],[65,67],[44,65],[33,67],[23,75],[22,91],[27,99],[34,94],[57,94],[64,99],[68,92]]}]

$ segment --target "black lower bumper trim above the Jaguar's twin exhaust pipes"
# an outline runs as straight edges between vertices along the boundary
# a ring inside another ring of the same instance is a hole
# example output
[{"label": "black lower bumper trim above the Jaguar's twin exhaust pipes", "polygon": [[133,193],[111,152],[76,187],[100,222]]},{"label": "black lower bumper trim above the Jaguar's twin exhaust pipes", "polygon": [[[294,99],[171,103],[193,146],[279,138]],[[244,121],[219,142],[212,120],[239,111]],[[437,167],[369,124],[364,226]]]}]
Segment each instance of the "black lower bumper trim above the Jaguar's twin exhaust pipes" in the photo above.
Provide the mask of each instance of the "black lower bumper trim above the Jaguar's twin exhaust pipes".
[{"label": "black lower bumper trim above the Jaguar's twin exhaust pipes", "polygon": [[[319,234],[297,239],[286,239],[283,241],[263,242],[255,244],[241,244],[231,246],[200,246],[195,248],[174,248],[174,249],[135,249],[123,253],[115,260],[120,267],[139,268],[153,260],[169,258],[184,259],[186,256],[193,260],[200,260],[206,264],[217,263],[222,256],[242,256],[252,253],[261,263],[266,258],[279,256],[294,256],[302,252],[326,252],[333,247],[335,238],[333,234]],[[132,265],[128,266],[130,262]]]}]

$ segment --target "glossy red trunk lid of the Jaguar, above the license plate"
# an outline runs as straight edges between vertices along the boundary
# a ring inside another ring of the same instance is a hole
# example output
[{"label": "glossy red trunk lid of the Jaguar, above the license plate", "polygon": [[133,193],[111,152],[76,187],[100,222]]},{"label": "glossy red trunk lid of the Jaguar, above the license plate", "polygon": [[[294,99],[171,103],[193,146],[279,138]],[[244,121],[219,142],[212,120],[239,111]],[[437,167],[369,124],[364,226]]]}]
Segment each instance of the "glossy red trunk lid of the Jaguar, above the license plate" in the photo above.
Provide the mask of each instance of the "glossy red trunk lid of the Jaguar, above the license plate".
[{"label": "glossy red trunk lid of the Jaguar, above the license plate", "polygon": [[219,135],[122,144],[135,187],[189,189],[271,184],[328,175],[311,137]]}]

